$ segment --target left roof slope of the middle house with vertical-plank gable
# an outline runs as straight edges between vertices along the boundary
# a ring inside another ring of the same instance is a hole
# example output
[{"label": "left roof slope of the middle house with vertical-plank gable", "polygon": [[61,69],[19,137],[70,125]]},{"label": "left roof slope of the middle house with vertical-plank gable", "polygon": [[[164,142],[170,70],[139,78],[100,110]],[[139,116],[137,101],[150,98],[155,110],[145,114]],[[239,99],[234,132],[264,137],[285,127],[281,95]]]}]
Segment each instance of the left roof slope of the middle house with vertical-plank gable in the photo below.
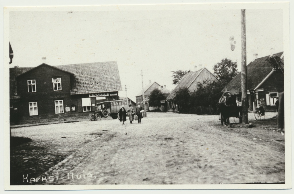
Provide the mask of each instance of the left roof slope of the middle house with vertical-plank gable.
[{"label": "left roof slope of the middle house with vertical-plank gable", "polygon": [[199,74],[204,69],[206,69],[206,68],[203,67],[203,68],[199,69],[198,71],[191,72],[191,73],[188,73],[188,74],[184,75],[183,79],[178,83],[178,85],[176,86],[176,88],[173,89],[173,91],[168,95],[168,97],[166,98],[166,100],[172,100],[173,98],[175,98],[176,91],[178,89],[184,88],[184,87],[188,88],[189,86],[191,86],[191,84],[193,83],[193,81],[199,76]]}]

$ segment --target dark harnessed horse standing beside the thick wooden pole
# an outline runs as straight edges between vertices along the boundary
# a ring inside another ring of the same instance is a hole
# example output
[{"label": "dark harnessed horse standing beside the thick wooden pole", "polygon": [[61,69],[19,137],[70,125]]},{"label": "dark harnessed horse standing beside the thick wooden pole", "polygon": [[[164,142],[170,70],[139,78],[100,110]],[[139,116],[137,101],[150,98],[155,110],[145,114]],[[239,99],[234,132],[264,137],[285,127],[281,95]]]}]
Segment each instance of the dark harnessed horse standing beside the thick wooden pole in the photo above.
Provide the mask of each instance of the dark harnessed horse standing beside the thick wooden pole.
[{"label": "dark harnessed horse standing beside the thick wooden pole", "polygon": [[230,124],[230,117],[240,118],[240,108],[236,102],[237,96],[230,92],[225,92],[218,101],[221,124]]}]

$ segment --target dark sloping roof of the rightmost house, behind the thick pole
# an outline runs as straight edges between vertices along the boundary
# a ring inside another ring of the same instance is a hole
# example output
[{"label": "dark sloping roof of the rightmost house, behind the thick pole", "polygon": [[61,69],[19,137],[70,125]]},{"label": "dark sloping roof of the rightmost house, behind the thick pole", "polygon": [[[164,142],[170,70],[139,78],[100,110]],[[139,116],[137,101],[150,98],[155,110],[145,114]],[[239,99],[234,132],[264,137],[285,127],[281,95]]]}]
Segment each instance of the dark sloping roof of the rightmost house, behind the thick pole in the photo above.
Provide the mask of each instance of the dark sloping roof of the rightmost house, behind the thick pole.
[{"label": "dark sloping roof of the rightmost house, behind the thick pole", "polygon": [[[283,52],[278,52],[273,56],[281,57],[282,55]],[[273,66],[268,61],[269,57],[270,55],[255,59],[247,65],[247,89],[249,91],[253,91],[273,70]],[[222,91],[225,90],[233,94],[241,93],[241,73],[237,74]]]}]

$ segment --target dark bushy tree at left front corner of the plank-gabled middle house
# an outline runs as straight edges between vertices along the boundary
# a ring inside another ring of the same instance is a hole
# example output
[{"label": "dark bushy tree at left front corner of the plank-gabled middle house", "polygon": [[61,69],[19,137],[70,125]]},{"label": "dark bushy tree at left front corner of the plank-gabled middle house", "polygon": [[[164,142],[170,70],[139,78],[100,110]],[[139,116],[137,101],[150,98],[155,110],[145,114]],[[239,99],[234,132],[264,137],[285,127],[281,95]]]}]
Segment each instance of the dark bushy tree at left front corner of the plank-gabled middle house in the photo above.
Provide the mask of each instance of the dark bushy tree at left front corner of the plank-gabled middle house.
[{"label": "dark bushy tree at left front corner of the plank-gabled middle house", "polygon": [[188,112],[188,107],[190,104],[190,91],[188,88],[183,87],[176,90],[176,95],[174,101],[178,104],[180,112]]}]

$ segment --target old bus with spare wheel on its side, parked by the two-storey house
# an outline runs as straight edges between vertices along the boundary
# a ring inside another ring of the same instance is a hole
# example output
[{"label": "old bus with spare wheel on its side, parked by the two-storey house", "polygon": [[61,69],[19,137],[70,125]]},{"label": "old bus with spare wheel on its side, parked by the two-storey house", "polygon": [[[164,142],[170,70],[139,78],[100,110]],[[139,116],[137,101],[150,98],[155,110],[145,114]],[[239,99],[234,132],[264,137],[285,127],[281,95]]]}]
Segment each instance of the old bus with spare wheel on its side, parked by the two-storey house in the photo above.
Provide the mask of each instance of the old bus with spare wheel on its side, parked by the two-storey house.
[{"label": "old bus with spare wheel on its side, parked by the two-storey house", "polygon": [[121,106],[127,106],[126,100],[115,100],[115,101],[105,101],[96,103],[96,111],[92,113],[90,119],[91,121],[94,120],[101,120],[102,117],[111,116],[113,119],[119,118],[118,112],[121,109]]}]

